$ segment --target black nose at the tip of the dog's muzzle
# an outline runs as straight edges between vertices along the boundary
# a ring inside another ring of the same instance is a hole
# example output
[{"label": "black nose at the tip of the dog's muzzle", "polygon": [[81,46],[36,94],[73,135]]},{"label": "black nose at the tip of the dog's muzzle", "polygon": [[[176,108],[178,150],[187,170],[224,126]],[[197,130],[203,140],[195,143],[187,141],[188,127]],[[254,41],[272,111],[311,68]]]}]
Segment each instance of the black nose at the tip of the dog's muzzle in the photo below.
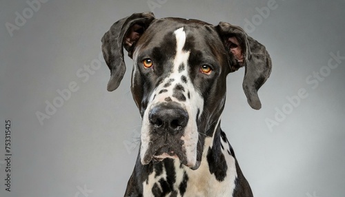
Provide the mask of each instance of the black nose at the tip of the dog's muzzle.
[{"label": "black nose at the tip of the dog's muzzle", "polygon": [[152,108],[148,119],[158,134],[178,134],[188,123],[188,113],[178,103],[161,103]]}]

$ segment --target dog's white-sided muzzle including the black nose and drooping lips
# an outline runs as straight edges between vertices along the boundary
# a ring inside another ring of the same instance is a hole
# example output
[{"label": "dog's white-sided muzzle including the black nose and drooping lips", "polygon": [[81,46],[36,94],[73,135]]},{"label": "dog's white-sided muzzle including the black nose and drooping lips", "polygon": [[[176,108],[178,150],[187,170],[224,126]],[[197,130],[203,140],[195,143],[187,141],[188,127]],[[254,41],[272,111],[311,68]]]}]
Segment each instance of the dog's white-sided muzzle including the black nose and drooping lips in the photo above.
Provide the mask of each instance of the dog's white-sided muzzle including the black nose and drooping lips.
[{"label": "dog's white-sided muzzle including the black nose and drooping lips", "polygon": [[156,103],[147,110],[143,123],[145,129],[141,132],[141,163],[146,165],[151,161],[174,158],[188,167],[195,167],[195,156],[190,154],[195,154],[197,141],[192,143],[190,140],[192,120],[187,110],[174,101]]}]

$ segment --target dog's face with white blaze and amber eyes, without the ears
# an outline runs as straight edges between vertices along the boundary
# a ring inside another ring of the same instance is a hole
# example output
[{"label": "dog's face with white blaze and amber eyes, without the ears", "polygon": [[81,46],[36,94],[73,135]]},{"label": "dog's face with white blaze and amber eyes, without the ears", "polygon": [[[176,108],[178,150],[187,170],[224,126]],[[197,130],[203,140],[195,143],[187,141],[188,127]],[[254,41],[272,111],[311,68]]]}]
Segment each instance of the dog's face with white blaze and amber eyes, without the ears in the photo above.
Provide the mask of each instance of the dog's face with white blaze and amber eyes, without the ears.
[{"label": "dog's face with white blaze and amber eyes, without the ears", "polygon": [[155,21],[137,42],[132,95],[142,116],[141,163],[172,157],[195,167],[201,159],[230,71],[226,51],[217,45],[222,43],[213,28],[185,19]]}]

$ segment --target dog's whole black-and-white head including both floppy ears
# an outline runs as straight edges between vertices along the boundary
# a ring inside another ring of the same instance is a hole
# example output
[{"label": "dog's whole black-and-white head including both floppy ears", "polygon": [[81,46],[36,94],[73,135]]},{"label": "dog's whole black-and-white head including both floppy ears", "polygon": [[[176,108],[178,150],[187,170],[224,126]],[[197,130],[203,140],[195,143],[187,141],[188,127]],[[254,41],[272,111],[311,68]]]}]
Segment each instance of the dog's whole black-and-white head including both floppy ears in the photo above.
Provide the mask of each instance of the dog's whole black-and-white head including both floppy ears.
[{"label": "dog's whole black-and-white head including both floppy ears", "polygon": [[270,75],[263,45],[239,27],[221,22],[165,18],[151,12],[114,23],[102,38],[110,68],[108,91],[117,89],[133,59],[132,95],[142,117],[141,163],[178,158],[197,169],[226,99],[226,76],[245,67],[244,92],[259,110],[257,90]]}]

